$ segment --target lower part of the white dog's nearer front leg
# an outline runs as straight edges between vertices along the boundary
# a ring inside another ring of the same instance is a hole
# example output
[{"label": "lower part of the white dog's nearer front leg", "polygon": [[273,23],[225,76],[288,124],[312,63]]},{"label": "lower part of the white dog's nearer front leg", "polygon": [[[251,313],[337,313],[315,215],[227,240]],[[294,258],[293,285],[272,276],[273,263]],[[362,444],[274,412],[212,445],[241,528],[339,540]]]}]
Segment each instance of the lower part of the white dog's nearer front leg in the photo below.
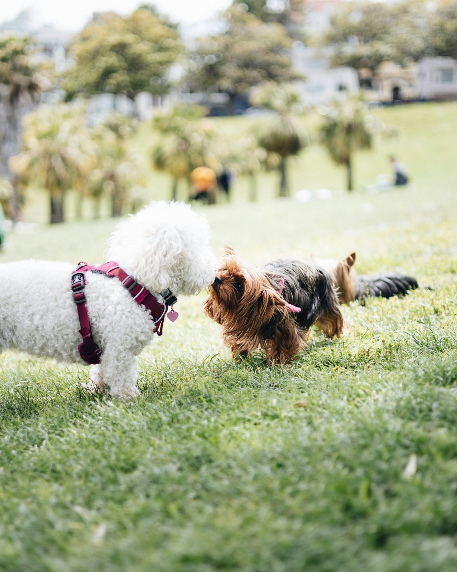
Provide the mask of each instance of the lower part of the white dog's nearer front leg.
[{"label": "lower part of the white dog's nearer front leg", "polygon": [[135,357],[130,352],[104,351],[101,362],[103,383],[110,388],[114,398],[128,399],[137,397],[138,373],[135,369]]}]

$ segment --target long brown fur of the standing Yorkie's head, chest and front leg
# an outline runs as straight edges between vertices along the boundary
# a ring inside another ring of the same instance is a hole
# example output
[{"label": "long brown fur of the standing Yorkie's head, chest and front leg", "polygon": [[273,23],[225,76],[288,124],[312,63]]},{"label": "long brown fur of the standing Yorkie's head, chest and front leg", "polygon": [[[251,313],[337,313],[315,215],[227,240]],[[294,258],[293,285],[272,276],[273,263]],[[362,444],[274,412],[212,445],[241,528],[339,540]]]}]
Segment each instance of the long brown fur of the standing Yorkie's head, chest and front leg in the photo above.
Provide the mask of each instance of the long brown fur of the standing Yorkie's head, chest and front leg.
[{"label": "long brown fur of the standing Yorkie's head, chest and front leg", "polygon": [[[288,304],[263,272],[244,265],[227,247],[221,268],[209,288],[205,313],[222,325],[233,355],[246,356],[262,345],[272,362],[290,360],[302,344]],[[280,337],[274,349],[272,339]]]}]

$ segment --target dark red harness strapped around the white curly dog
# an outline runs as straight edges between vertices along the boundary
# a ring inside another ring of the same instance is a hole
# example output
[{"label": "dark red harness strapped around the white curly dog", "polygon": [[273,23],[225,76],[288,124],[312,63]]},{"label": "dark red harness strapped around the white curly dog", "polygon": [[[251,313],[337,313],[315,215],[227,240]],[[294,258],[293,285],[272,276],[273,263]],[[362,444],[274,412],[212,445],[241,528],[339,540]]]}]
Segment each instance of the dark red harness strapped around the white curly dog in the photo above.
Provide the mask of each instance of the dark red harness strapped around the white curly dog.
[{"label": "dark red harness strapped around the white curly dog", "polygon": [[[86,286],[86,272],[95,272],[104,274],[109,278],[117,278],[123,287],[130,293],[138,305],[144,306],[146,311],[153,316],[155,324],[155,332],[158,336],[162,335],[163,321],[165,320],[165,313],[171,305],[173,311],[173,304],[176,303],[176,297],[170,292],[165,290],[161,292],[161,296],[165,299],[166,303],[161,304],[155,296],[146,290],[144,286],[138,284],[133,276],[127,274],[118,264],[114,261],[106,262],[101,266],[91,266],[85,262],[80,262],[78,267],[71,275],[71,291],[73,292],[73,300],[78,308],[79,324],[81,329],[79,333],[82,336],[82,343],[78,345],[79,355],[81,358],[90,364],[100,363],[102,355],[101,349],[95,343],[90,328],[89,313],[87,312],[87,299],[84,292]],[[172,319],[173,320],[173,319]],[[173,320],[174,321],[174,320]]]}]

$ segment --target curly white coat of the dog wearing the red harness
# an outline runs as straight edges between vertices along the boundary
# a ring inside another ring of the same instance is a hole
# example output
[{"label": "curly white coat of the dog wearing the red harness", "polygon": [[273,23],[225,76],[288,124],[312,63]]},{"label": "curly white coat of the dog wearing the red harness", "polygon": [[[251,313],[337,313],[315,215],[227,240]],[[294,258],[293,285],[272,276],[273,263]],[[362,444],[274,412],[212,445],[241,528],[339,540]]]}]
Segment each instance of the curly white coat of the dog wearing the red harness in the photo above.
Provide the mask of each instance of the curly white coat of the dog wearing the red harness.
[{"label": "curly white coat of the dog wearing the red harness", "polygon": [[[123,219],[111,236],[115,260],[163,303],[159,292],[191,295],[215,279],[217,261],[207,243],[206,218],[182,202],[153,202]],[[88,261],[91,263],[91,261]],[[78,352],[79,319],[71,293],[75,265],[28,260],[0,264],[0,351],[6,348],[66,362]],[[86,273],[87,309],[101,362],[90,379],[119,398],[135,396],[135,356],[149,344],[154,323],[117,279]],[[165,332],[166,335],[166,332]]]}]

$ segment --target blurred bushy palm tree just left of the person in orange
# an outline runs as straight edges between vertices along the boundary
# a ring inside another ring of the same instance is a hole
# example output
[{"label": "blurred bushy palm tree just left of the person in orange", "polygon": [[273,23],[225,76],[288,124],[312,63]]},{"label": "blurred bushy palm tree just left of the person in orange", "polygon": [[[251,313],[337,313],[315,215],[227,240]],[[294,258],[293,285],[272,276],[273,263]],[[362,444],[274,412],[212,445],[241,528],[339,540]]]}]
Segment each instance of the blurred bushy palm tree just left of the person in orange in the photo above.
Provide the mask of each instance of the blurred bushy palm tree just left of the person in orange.
[{"label": "blurred bushy palm tree just left of the person in orange", "polygon": [[156,169],[171,176],[171,200],[176,200],[178,181],[190,181],[191,172],[199,166],[214,168],[217,156],[211,150],[213,122],[198,105],[175,105],[165,114],[153,118],[153,128],[161,133],[152,160]]}]

